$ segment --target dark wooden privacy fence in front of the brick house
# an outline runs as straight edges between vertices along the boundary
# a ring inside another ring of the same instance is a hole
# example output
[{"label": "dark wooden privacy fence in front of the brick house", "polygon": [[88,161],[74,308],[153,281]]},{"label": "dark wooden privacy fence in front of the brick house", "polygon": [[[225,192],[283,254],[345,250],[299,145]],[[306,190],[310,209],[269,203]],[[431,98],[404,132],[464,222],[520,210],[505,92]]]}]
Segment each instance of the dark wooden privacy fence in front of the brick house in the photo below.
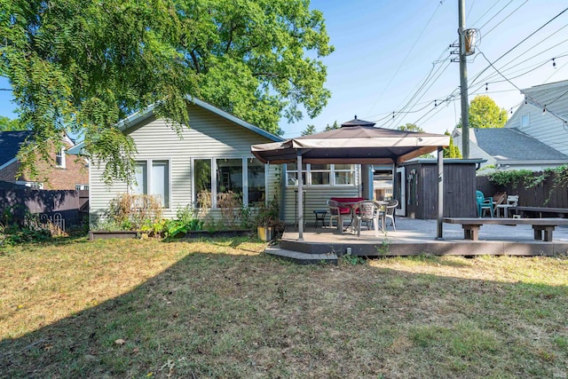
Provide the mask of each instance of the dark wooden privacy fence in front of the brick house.
[{"label": "dark wooden privacy fence in front of the brick house", "polygon": [[67,228],[81,225],[89,213],[89,191],[0,189],[0,223],[13,217],[21,225],[27,212],[40,220],[63,219]]}]

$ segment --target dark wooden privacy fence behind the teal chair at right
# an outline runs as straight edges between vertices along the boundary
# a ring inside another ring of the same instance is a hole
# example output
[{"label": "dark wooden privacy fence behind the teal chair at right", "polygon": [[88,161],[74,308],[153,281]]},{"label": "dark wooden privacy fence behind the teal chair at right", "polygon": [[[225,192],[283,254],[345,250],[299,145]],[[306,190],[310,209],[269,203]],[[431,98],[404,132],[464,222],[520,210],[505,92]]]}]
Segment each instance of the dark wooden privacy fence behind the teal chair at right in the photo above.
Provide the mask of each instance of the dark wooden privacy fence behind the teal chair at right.
[{"label": "dark wooden privacy fence behind the teal chair at right", "polygon": [[[534,172],[533,177],[539,177],[542,172]],[[568,188],[561,186],[552,191],[555,183],[555,174],[550,174],[548,178],[540,184],[525,188],[521,183],[517,186],[495,186],[487,177],[477,177],[477,189],[482,191],[485,196],[493,196],[493,193],[506,192],[507,194],[518,194],[518,205],[523,207],[548,207],[548,208],[568,208]]]}]

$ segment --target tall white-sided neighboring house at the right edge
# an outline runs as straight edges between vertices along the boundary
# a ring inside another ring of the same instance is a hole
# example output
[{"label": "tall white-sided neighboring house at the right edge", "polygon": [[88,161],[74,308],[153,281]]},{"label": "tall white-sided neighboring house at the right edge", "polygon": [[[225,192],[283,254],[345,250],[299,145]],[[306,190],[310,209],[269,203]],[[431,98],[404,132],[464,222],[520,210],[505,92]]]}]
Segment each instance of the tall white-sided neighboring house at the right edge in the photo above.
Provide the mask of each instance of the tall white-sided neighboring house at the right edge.
[{"label": "tall white-sided neighboring house at the right edge", "polygon": [[523,93],[525,101],[505,128],[517,129],[568,154],[568,81],[536,85]]}]

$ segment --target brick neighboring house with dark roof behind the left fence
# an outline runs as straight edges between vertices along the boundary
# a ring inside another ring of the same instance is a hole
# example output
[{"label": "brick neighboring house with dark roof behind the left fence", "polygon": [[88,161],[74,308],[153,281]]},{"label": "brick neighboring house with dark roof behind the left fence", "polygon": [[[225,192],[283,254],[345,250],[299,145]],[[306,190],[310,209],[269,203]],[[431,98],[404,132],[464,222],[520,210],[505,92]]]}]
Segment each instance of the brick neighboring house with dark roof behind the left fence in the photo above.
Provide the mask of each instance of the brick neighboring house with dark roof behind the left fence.
[{"label": "brick neighboring house with dark roof behind the left fence", "polygon": [[0,180],[39,189],[88,189],[86,163],[75,156],[67,156],[67,149],[75,146],[67,136],[61,141],[64,147],[52,149],[51,162],[39,156],[36,158],[38,178],[29,178],[26,172],[19,175],[21,164],[17,154],[32,138],[34,134],[30,130],[0,131]]}]

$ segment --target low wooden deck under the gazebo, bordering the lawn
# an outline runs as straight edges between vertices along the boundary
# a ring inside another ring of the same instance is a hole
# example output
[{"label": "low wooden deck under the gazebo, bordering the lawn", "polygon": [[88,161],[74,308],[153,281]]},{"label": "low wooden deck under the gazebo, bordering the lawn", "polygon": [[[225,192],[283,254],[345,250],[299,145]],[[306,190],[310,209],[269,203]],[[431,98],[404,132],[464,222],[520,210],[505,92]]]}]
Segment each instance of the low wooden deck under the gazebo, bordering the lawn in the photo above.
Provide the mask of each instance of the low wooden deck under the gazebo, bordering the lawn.
[{"label": "low wooden deck under the gazebo, bordering the lawn", "polygon": [[[486,225],[478,241],[463,238],[461,225],[444,224],[443,240],[436,240],[436,220],[416,220],[397,217],[397,231],[387,227],[387,233],[375,237],[373,230],[363,230],[360,237],[353,233],[337,232],[336,228],[308,225],[304,241],[298,241],[294,226],[288,227],[280,244],[267,253],[288,257],[302,263],[316,263],[328,257],[334,261],[348,249],[352,255],[363,257],[393,257],[430,255],[508,255],[556,256],[568,254],[568,227],[556,228],[553,241],[535,241],[531,225]],[[310,259],[317,257],[316,259]],[[312,262],[311,262],[312,261]]]}]

